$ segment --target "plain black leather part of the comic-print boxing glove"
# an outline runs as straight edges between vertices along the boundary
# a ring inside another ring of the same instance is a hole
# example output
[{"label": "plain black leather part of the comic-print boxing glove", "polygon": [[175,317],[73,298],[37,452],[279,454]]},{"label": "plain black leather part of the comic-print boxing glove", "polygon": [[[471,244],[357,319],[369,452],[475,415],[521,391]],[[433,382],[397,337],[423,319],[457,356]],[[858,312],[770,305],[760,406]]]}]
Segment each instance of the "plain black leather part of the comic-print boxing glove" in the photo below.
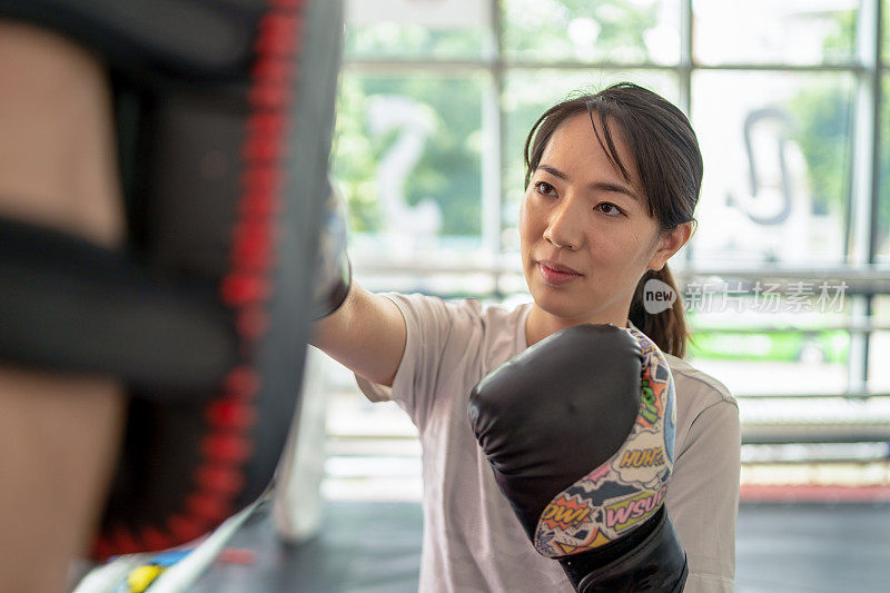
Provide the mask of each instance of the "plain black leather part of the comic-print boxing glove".
[{"label": "plain black leather part of the comic-print boxing glove", "polygon": [[627,438],[642,364],[627,332],[585,324],[538,342],[473,388],[471,426],[530,537],[547,503]]}]

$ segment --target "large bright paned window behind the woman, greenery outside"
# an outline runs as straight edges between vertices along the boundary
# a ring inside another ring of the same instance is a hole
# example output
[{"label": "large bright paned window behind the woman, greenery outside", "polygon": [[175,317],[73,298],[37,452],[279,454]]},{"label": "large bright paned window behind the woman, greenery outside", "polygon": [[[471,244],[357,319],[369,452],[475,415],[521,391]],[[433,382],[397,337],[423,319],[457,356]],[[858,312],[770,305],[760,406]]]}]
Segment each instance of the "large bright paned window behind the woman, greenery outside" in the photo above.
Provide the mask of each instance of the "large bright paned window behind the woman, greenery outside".
[{"label": "large bright paned window behind the woman, greenery outside", "polygon": [[857,397],[890,385],[890,0],[347,0],[333,175],[359,281],[523,298],[528,129],[619,80],[699,135],[699,228],[672,260],[691,357],[758,438],[798,434],[762,396],[804,417],[831,395],[832,438],[856,439]]}]

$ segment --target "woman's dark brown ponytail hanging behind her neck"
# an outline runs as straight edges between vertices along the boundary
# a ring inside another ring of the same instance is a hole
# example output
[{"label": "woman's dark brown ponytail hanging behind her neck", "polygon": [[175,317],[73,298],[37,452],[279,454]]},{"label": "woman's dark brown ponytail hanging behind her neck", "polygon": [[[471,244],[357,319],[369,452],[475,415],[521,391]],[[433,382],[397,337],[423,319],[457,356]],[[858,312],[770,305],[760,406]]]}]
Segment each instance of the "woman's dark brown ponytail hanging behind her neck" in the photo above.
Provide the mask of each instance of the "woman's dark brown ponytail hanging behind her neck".
[{"label": "woman's dark brown ponytail hanging behind her neck", "polygon": [[[643,302],[643,287],[653,278],[666,284],[676,294],[676,300],[671,308],[654,314],[646,312]],[[661,270],[649,270],[640,278],[631,302],[629,318],[640,332],[652,338],[662,352],[678,358],[685,357],[690,333],[686,312],[683,308],[683,294],[678,288],[668,264]]]}]

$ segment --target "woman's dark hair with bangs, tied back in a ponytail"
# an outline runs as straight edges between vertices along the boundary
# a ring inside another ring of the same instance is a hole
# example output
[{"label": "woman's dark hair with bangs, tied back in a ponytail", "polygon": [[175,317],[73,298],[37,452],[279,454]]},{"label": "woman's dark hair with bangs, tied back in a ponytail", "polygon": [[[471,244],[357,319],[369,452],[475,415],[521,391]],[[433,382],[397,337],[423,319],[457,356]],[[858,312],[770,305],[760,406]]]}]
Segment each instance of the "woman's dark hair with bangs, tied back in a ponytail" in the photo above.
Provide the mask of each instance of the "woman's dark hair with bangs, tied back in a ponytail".
[{"label": "woman's dark hair with bangs, tied back in a ponytail", "polygon": [[[587,112],[593,123],[596,115],[602,136],[593,127],[596,140],[609,160],[631,181],[627,167],[619,158],[611,123],[619,127],[640,174],[649,200],[649,214],[659,221],[662,234],[683,223],[695,223],[693,213],[702,186],[702,155],[686,116],[674,105],[637,85],[620,82],[593,95],[562,101],[538,118],[525,141],[525,187],[532,178],[553,132],[567,118]],[[665,312],[647,314],[643,307],[643,286],[652,278],[668,284],[678,295]],[[659,347],[674,356],[686,354],[689,326],[682,295],[664,265],[646,271],[636,285],[631,302],[630,320]]]}]

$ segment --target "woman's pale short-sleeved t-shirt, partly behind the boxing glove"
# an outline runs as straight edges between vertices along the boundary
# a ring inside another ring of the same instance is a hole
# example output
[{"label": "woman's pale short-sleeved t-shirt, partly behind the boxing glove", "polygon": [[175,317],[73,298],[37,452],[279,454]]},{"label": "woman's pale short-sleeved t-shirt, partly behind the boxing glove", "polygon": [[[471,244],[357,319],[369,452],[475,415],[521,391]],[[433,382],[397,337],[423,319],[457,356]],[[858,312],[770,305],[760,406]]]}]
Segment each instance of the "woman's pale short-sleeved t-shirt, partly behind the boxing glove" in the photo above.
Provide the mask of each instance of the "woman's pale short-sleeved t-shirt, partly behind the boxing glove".
[{"label": "woman's pale short-sleeved t-shirt, partly behind the boxing glove", "polygon": [[[423,447],[422,593],[574,591],[558,562],[540,555],[494,481],[467,419],[469,392],[528,347],[531,304],[513,310],[465,299],[384,295],[407,325],[392,389],[362,377],[373,402],[408,413]],[[726,388],[666,355],[676,389],[676,459],[665,504],[689,559],[686,593],[732,591],[740,427]]]}]

